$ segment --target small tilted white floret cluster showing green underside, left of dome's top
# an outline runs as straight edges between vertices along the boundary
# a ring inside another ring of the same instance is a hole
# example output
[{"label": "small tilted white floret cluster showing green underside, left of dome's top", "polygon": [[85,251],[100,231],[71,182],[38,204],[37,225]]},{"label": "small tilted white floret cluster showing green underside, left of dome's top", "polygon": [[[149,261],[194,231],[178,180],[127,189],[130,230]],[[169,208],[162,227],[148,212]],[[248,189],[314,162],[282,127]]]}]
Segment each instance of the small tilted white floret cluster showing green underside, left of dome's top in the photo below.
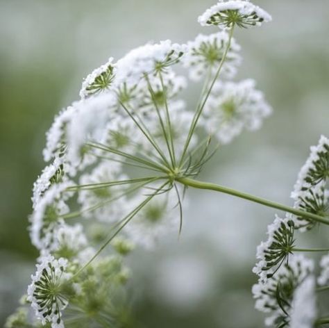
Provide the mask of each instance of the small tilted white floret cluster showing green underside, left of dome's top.
[{"label": "small tilted white floret cluster showing green underside, left of dome's top", "polygon": [[110,57],[106,64],[94,69],[94,71],[84,79],[79,95],[81,98],[87,98],[91,95],[104,92],[110,89],[114,79],[115,64],[113,63],[113,58]]}]

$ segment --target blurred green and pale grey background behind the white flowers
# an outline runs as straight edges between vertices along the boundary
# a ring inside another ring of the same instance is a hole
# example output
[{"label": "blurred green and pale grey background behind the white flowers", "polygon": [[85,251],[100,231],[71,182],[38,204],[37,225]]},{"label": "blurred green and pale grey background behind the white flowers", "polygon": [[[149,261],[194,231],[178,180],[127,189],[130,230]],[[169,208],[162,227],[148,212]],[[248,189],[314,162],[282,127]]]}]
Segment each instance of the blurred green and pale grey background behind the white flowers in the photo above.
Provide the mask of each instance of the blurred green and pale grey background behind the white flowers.
[{"label": "blurred green and pale grey background behind the white flowers", "polygon": [[[260,131],[221,149],[201,179],[292,204],[289,192],[310,145],[329,132],[329,2],[255,2],[273,22],[237,31],[244,56],[237,79],[256,79],[274,112]],[[149,40],[185,42],[216,31],[196,22],[213,3],[0,0],[1,327],[34,270],[27,218],[53,116],[78,98],[83,77],[109,56],[118,59]],[[189,192],[180,239],[167,236],[157,249],[138,249],[128,260],[137,318],[157,328],[263,327],[253,309],[251,268],[275,211]],[[324,233],[303,239],[303,245],[328,243]]]}]

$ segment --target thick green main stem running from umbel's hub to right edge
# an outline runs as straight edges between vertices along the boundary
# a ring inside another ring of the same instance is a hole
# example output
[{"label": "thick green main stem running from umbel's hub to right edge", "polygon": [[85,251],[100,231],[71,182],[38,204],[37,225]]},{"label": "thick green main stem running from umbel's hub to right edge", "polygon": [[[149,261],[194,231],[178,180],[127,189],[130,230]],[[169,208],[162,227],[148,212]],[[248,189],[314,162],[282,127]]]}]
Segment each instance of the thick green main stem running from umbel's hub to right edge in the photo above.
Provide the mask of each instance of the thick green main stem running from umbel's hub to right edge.
[{"label": "thick green main stem running from umbel's hub to right edge", "polygon": [[276,202],[271,202],[270,200],[260,198],[260,197],[256,197],[256,196],[247,194],[246,192],[241,192],[241,191],[238,191],[238,190],[235,190],[235,189],[232,189],[232,188],[219,186],[219,185],[214,184],[214,183],[196,181],[194,179],[189,179],[189,178],[176,178],[176,181],[178,181],[180,183],[183,183],[183,185],[189,186],[189,187],[192,187],[192,188],[208,189],[208,190],[223,192],[223,193],[228,194],[228,195],[232,195],[232,196],[235,196],[235,197],[247,199],[251,202],[262,204],[264,206],[269,206],[271,208],[276,208],[276,209],[281,210],[281,211],[285,211],[285,212],[292,213],[294,215],[298,215],[302,218],[312,219],[314,221],[321,222],[321,223],[329,225],[329,220],[326,219],[326,218],[323,218],[320,215],[316,215],[316,214],[313,214],[313,213],[307,213],[307,212],[304,212],[304,211],[300,211],[296,208],[285,206],[285,205],[282,205],[282,204],[279,204],[279,203],[276,203]]}]

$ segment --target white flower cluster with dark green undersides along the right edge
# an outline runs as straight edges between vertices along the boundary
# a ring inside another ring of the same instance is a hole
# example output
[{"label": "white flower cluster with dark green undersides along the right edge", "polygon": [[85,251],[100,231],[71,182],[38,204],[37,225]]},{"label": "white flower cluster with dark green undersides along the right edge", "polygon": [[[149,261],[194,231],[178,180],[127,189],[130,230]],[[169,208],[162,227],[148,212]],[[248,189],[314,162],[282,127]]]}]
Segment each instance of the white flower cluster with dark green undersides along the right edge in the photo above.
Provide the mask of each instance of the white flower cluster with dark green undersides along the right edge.
[{"label": "white flower cluster with dark green undersides along the right edge", "polygon": [[300,214],[287,213],[284,220],[276,218],[268,227],[267,242],[258,246],[259,261],[253,272],[258,274],[259,281],[253,286],[253,295],[256,309],[270,313],[265,320],[269,326],[312,328],[317,322],[317,284],[328,288],[329,256],[322,257],[321,273],[316,279],[314,261],[295,253],[328,249],[296,248],[295,232],[311,229],[317,222],[328,222],[305,217],[305,213],[311,213],[328,218],[328,169],[329,140],[321,136],[319,144],[311,147],[292,192],[294,208]]}]

